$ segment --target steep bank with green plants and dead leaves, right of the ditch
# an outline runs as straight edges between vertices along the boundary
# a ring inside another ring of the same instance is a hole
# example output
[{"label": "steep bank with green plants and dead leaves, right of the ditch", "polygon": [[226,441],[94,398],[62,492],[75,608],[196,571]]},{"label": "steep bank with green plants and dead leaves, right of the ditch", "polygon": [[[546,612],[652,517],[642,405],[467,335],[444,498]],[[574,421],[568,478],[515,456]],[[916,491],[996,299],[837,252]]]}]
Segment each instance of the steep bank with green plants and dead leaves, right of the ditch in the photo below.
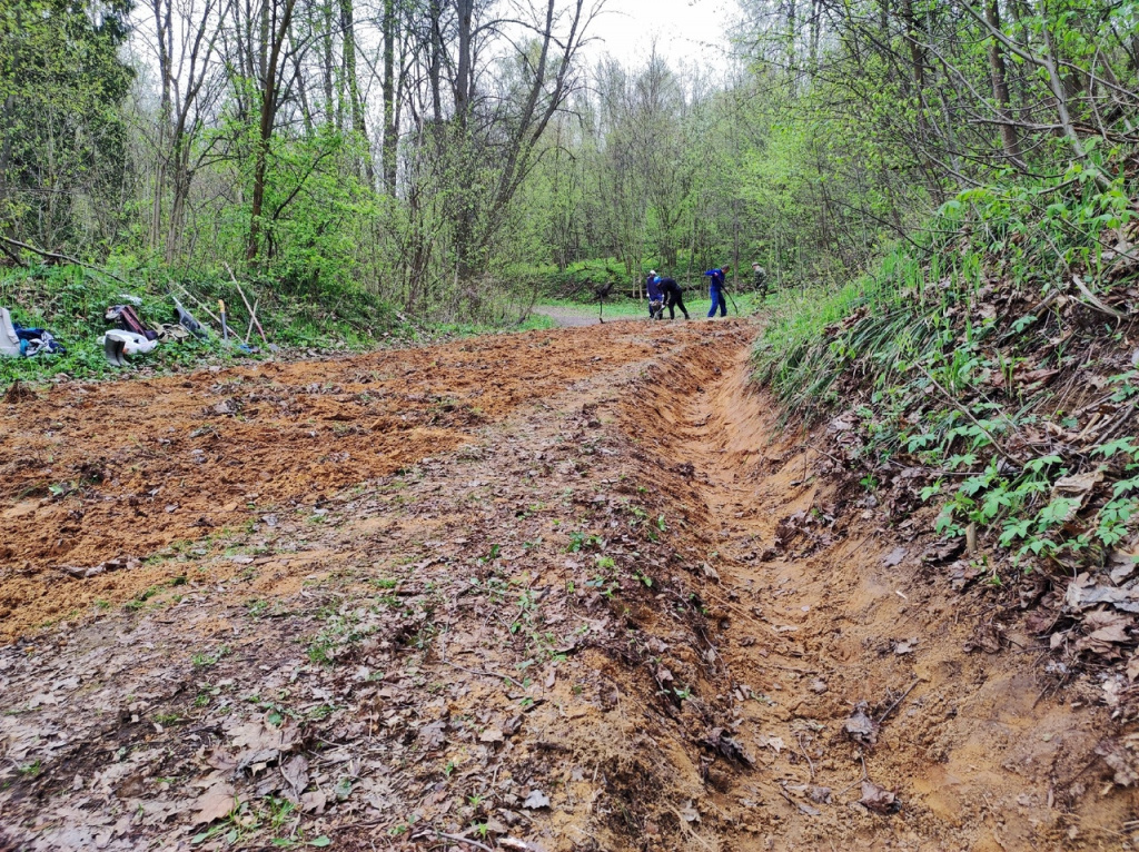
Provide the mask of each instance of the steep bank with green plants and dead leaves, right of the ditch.
[{"label": "steep bank with green plants and dead leaves, right of the ditch", "polygon": [[[1136,186],[970,190],[837,289],[780,294],[756,379],[902,523],[968,540],[974,575],[1134,571]],[[976,543],[973,543],[976,542]],[[1093,580],[1095,581],[1095,580]],[[1059,588],[1059,587],[1057,587]],[[1073,624],[1058,609],[1056,630]]]}]

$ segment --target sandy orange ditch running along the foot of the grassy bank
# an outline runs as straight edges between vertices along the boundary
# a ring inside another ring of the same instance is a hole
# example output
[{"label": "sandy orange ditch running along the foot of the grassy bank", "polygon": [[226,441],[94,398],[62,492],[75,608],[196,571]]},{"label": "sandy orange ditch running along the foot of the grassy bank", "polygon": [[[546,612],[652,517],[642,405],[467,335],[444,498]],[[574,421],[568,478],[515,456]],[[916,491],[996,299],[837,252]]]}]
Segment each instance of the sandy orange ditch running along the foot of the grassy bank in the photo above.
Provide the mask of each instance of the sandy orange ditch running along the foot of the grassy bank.
[{"label": "sandy orange ditch running along the foot of the grassy bank", "polygon": [[983,584],[954,589],[923,563],[932,517],[891,530],[865,491],[818,474],[833,467],[819,435],[776,428],[746,352],[716,357],[718,375],[673,364],[628,410],[634,431],[661,425],[655,458],[691,465],[658,484],[703,503],[716,650],[752,697],[734,731],[756,767],[708,786],[705,826],[740,847],[1128,842],[1137,797],[1096,755],[1125,731],[1100,690],[1057,689],[1047,641],[1023,624],[998,633]]}]

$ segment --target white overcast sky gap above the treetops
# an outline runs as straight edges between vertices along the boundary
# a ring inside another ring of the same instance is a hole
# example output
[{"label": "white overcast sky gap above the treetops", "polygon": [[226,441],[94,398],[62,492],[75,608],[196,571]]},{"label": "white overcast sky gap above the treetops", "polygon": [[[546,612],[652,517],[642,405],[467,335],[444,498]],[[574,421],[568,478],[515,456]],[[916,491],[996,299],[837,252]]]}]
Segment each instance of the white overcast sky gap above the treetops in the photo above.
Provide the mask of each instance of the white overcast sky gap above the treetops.
[{"label": "white overcast sky gap above the treetops", "polygon": [[657,52],[675,67],[679,60],[723,69],[731,52],[728,27],[736,0],[606,0],[593,22],[591,57],[612,54],[629,67],[641,65],[656,38]]}]

